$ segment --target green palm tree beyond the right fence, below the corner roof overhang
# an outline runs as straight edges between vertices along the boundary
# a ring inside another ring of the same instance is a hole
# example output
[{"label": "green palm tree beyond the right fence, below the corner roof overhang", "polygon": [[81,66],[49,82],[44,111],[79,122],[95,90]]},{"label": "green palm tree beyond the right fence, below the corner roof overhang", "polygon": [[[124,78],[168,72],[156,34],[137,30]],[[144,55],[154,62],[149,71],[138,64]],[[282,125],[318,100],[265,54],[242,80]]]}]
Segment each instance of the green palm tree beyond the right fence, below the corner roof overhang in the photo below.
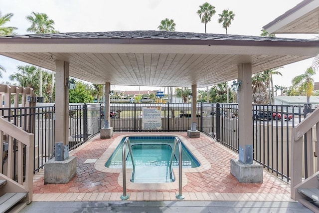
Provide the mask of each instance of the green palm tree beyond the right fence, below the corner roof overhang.
[{"label": "green palm tree beyond the right fence, below the corner roof overhang", "polygon": [[306,93],[307,103],[310,102],[310,96],[314,91],[314,75],[316,75],[315,68],[308,67],[304,74],[298,75],[292,80],[293,88],[299,87]]}]

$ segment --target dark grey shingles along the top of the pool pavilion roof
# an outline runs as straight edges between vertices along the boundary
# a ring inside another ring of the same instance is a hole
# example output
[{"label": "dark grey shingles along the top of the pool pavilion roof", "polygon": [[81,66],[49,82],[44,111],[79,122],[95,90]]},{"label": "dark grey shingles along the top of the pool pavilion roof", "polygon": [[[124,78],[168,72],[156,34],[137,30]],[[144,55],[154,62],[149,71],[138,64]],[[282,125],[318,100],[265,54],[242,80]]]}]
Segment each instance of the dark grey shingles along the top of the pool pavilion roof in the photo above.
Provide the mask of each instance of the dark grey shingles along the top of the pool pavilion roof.
[{"label": "dark grey shingles along the top of the pool pavilion roof", "polygon": [[[250,36],[250,35],[229,35],[229,34],[211,34],[211,33],[196,33],[196,32],[177,32],[177,31],[156,31],[156,30],[136,30],[136,31],[109,31],[109,32],[65,32],[65,33],[50,33],[50,34],[25,34],[25,35],[7,35],[0,36],[0,39],[7,38],[30,38],[36,39],[110,39],[110,40],[160,40],[159,43],[164,43],[165,40],[172,40],[177,44],[180,41],[284,41],[284,42],[314,42],[310,39],[299,38],[280,38],[280,37],[265,37],[265,36]],[[25,40],[24,40],[25,41]],[[110,41],[112,42],[112,41]],[[115,41],[121,43],[121,41]],[[185,43],[185,42],[182,42]],[[198,43],[197,43],[198,44]],[[214,43],[215,44],[215,43]]]}]

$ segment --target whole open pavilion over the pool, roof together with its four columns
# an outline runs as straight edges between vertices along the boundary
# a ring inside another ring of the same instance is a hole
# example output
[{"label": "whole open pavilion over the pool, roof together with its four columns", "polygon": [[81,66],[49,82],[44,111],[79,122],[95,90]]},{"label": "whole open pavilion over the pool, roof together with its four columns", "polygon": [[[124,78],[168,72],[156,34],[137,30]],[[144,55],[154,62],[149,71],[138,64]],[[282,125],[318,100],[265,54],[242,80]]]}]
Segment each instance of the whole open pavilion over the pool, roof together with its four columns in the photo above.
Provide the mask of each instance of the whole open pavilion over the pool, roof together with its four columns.
[{"label": "whole open pavilion over the pool, roof together with its four columns", "polygon": [[[196,103],[197,87],[241,80],[238,125],[245,128],[239,131],[239,155],[231,161],[231,173],[243,183],[262,182],[261,167],[250,178],[244,177],[246,172],[241,170],[241,164],[248,171],[257,167],[252,159],[252,120],[242,119],[251,117],[251,75],[318,53],[318,40],[152,30],[0,38],[1,55],[56,71],[55,142],[64,147],[68,143],[69,76],[106,85],[106,115],[110,111],[111,85],[191,87],[191,102]],[[195,114],[196,105],[192,104],[194,123],[198,122]],[[105,120],[101,138],[111,138],[112,127]],[[63,181],[69,181],[75,174],[76,158],[63,156],[63,149],[59,150],[59,161],[73,165],[72,175],[63,177]]]}]

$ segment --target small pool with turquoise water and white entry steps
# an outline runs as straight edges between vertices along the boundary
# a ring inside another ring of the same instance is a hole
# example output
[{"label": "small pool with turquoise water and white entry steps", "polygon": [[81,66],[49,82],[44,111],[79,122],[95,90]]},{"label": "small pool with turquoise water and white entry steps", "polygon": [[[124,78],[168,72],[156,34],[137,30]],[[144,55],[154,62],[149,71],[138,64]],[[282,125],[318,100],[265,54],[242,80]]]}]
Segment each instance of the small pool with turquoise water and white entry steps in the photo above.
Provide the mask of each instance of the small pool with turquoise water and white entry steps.
[{"label": "small pool with turquoise water and white entry steps", "polygon": [[[122,168],[122,147],[126,137],[116,147],[105,163],[108,168]],[[169,162],[175,136],[129,136],[133,159],[136,165],[135,183],[169,183],[174,181],[169,171]],[[200,164],[187,147],[182,145],[182,167],[196,168]],[[126,167],[133,168],[128,147],[126,148]],[[171,168],[178,168],[178,148],[176,146]]]}]

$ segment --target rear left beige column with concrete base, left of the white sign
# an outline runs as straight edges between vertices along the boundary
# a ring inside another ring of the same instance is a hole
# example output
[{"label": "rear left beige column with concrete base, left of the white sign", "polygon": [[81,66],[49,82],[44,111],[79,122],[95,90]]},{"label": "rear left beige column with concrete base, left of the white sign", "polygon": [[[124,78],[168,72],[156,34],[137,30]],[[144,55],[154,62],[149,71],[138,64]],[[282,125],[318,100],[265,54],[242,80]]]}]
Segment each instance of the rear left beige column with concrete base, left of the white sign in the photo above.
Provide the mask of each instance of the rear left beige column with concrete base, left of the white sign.
[{"label": "rear left beige column with concrete base, left of the white sign", "polygon": [[112,138],[113,127],[110,127],[110,82],[105,82],[105,98],[104,98],[104,128],[101,129],[100,138]]}]

